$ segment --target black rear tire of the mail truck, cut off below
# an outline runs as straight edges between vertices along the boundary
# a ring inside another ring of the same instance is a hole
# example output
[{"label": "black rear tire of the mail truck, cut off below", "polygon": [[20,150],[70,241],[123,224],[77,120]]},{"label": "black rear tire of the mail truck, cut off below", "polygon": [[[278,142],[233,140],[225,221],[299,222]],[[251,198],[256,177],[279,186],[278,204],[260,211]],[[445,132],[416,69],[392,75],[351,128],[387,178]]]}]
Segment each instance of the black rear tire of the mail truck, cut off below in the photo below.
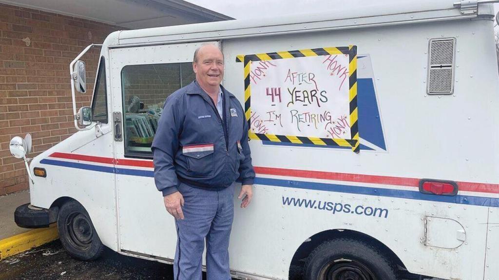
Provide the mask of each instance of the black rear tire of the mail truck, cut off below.
[{"label": "black rear tire of the mail truck, cut off below", "polygon": [[308,256],[304,280],[397,280],[395,266],[367,243],[340,238],[317,246]]}]

